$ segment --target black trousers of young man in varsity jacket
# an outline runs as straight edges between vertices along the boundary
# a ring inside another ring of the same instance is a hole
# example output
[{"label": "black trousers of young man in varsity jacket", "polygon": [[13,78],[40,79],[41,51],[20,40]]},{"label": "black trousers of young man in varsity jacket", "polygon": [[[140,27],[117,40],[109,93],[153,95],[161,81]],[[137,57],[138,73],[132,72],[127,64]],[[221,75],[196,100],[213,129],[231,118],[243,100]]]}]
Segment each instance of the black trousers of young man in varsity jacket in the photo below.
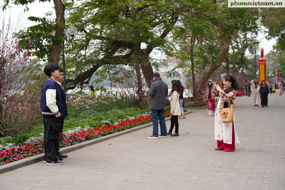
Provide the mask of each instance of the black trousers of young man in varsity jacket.
[{"label": "black trousers of young man in varsity jacket", "polygon": [[56,146],[60,131],[61,118],[43,115],[44,120],[44,160],[46,162],[56,162]]}]

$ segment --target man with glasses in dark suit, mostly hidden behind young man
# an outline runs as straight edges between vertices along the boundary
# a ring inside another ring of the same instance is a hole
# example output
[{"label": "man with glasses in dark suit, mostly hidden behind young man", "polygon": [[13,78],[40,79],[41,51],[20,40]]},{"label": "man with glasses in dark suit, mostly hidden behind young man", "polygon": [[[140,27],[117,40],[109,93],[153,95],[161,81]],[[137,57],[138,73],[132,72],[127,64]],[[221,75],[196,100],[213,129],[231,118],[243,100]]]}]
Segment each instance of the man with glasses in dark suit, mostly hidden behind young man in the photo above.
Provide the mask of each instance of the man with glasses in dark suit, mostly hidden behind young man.
[{"label": "man with glasses in dark suit, mostly hidden behind young man", "polygon": [[[62,81],[64,80],[63,69],[60,68],[60,69],[58,69],[58,71],[59,71],[60,77],[55,80],[55,84],[60,89],[60,97],[61,97],[61,102],[62,102],[62,116],[61,116],[61,124],[60,124],[60,131],[62,132],[64,119],[66,118],[68,113],[67,113],[67,107],[66,107],[66,96],[65,96],[65,92],[64,92],[64,89],[62,87],[62,84],[61,84]],[[63,158],[67,157],[67,155],[62,155],[59,152],[59,142],[57,143],[57,146],[56,146],[56,156],[58,156],[59,160],[62,160]]]}]

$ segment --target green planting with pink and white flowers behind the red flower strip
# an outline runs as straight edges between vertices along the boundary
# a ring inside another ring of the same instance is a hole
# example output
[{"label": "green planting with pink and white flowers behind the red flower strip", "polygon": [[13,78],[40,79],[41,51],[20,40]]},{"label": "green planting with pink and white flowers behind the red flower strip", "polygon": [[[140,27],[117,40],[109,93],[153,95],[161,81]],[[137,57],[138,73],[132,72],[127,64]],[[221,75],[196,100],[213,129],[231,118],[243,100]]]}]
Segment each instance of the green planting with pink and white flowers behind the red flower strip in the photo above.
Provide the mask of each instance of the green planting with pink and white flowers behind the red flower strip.
[{"label": "green planting with pink and white flowers behind the red flower strip", "polygon": [[[109,120],[112,124],[119,121],[137,118],[141,115],[148,115],[150,109],[141,110],[124,105],[121,99],[113,95],[101,94],[93,97],[86,95],[67,95],[68,116],[64,119],[63,132],[79,131],[85,126],[91,129],[104,124],[104,120]],[[79,109],[77,109],[79,108]],[[44,126],[42,119],[38,118],[38,124],[30,125],[27,130],[0,138],[0,152],[4,148],[12,146],[25,146],[27,142],[42,140]],[[75,130],[76,129],[76,130]],[[70,133],[69,133],[70,134]],[[33,139],[30,139],[33,137]]]}]

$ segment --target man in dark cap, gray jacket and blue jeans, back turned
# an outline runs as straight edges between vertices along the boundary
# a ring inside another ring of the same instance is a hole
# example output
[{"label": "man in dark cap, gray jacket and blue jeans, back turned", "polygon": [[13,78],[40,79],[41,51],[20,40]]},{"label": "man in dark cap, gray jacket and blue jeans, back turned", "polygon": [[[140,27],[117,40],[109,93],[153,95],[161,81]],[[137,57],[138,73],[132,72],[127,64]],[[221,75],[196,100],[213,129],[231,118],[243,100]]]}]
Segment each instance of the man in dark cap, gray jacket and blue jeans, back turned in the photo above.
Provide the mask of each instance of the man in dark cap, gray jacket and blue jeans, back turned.
[{"label": "man in dark cap, gray jacket and blue jeans, back turned", "polygon": [[[168,85],[162,81],[159,73],[153,73],[152,75],[152,84],[148,90],[148,95],[150,99],[150,109],[152,116],[153,131],[152,136],[148,138],[166,138],[166,124],[164,119],[164,109],[165,109],[165,97],[168,94]],[[160,124],[160,135],[158,135],[158,117]]]}]

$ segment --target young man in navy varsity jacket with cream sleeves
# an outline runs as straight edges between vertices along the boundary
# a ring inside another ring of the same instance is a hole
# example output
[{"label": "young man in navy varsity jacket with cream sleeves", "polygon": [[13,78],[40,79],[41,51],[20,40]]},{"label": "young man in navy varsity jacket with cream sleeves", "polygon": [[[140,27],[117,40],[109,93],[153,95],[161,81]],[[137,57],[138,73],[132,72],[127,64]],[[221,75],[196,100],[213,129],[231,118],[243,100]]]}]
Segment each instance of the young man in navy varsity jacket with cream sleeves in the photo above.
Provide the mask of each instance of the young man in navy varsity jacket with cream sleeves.
[{"label": "young man in navy varsity jacket with cream sleeves", "polygon": [[42,85],[40,98],[40,109],[44,120],[44,162],[47,165],[61,165],[62,162],[56,156],[62,115],[60,89],[54,83],[60,77],[58,65],[45,66],[44,73],[48,76],[47,81]]}]

